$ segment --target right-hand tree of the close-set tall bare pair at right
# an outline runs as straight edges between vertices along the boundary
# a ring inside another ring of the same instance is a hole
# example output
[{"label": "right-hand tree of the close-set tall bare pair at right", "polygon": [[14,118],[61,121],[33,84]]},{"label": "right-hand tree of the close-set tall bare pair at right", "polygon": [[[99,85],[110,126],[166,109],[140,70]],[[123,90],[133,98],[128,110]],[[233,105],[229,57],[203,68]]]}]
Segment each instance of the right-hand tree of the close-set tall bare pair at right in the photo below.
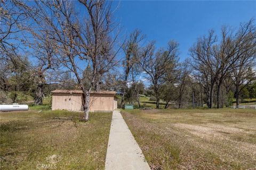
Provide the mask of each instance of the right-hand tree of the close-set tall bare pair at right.
[{"label": "right-hand tree of the close-set tall bare pair at right", "polygon": [[256,45],[256,32],[253,20],[244,24],[241,23],[236,33],[228,30],[227,27],[223,27],[221,33],[220,45],[214,48],[216,61],[215,77],[217,78],[217,108],[221,107],[220,91],[223,81],[225,81],[229,72],[245,65],[242,59],[243,57],[251,58],[251,56],[255,56]]}]

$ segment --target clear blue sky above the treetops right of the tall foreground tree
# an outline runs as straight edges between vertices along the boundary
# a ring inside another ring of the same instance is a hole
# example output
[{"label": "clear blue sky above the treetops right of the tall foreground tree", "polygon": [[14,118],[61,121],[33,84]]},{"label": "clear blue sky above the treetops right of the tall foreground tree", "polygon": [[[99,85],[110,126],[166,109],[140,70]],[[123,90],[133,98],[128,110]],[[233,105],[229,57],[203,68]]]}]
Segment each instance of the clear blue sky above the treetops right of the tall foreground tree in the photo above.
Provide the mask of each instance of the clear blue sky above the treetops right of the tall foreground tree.
[{"label": "clear blue sky above the treetops right of the tall foreground tree", "polygon": [[256,1],[114,1],[117,5],[114,15],[123,34],[140,29],[157,47],[174,39],[180,44],[181,61],[208,30],[218,33],[221,25],[237,28],[240,22],[256,20]]}]

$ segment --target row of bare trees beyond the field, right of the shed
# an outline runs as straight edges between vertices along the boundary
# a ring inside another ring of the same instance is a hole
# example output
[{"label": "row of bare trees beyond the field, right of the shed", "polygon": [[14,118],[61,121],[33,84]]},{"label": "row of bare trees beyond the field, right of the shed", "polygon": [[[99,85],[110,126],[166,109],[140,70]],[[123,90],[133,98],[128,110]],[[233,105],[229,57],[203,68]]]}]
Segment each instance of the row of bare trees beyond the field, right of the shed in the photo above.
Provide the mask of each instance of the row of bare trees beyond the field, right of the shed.
[{"label": "row of bare trees beyond the field, right of the shed", "polygon": [[[209,108],[214,104],[217,108],[229,106],[233,97],[239,106],[239,97],[245,96],[245,91],[253,87],[256,79],[255,25],[250,20],[241,23],[238,29],[223,26],[220,32],[217,36],[210,30],[199,37],[189,49],[190,57],[182,63],[178,61],[178,43],[175,41],[171,40],[166,48],[157,50],[154,41],[144,46],[133,41],[129,51],[134,54],[129,66],[135,66],[145,74],[156,108],[159,108],[160,100],[165,102],[165,108],[170,102],[177,103],[180,108],[182,103],[193,100],[193,94],[201,106],[204,103]],[[140,32],[134,33],[140,37]],[[125,66],[122,103],[129,81],[129,67]],[[250,96],[253,96],[253,90]]]}]

